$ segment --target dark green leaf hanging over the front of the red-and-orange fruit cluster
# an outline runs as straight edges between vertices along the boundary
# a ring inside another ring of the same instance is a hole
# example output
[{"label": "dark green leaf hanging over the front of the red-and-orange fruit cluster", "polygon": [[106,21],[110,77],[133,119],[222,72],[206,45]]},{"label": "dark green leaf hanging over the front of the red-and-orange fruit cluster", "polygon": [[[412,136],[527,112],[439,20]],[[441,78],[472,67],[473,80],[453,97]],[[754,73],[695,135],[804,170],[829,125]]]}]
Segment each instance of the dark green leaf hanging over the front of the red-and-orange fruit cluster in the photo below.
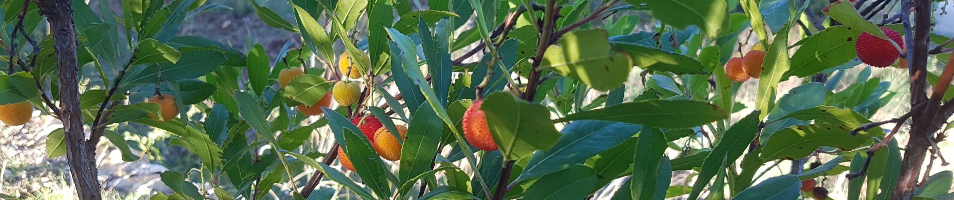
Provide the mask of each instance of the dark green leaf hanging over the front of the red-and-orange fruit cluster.
[{"label": "dark green leaf hanging over the front of the red-and-orange fruit cluster", "polygon": [[387,184],[387,178],[384,177],[384,173],[390,172],[384,168],[384,163],[371,147],[371,142],[361,133],[355,133],[349,129],[343,129],[343,131],[344,142],[348,144],[344,148],[344,154],[350,158],[355,171],[379,197],[390,197],[390,187]]}]

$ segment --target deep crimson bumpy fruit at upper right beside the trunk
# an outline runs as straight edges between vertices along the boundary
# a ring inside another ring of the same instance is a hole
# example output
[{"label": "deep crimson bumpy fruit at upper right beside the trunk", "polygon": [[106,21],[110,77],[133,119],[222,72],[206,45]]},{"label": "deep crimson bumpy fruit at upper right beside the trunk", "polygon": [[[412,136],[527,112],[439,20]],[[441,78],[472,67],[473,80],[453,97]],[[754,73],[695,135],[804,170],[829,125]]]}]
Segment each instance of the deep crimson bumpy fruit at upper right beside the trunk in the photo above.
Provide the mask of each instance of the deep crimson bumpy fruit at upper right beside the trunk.
[{"label": "deep crimson bumpy fruit at upper right beside the trunk", "polygon": [[[904,46],[901,34],[897,31],[887,27],[881,27],[881,31],[899,46]],[[855,50],[858,51],[858,58],[861,59],[861,63],[877,67],[894,64],[894,62],[901,57],[901,52],[898,52],[898,49],[895,48],[894,45],[891,45],[891,42],[875,37],[867,32],[863,32],[861,36],[858,36],[858,42],[855,43]]]}]

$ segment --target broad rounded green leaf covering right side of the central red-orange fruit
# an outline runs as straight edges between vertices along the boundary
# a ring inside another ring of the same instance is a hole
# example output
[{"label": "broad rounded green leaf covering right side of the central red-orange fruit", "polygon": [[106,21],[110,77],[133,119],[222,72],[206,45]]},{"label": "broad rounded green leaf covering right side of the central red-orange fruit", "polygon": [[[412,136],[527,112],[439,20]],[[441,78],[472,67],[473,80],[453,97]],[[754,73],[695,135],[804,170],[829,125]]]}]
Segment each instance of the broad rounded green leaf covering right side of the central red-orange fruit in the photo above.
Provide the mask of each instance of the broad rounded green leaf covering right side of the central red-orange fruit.
[{"label": "broad rounded green leaf covering right side of the central red-orange fruit", "polygon": [[546,106],[519,100],[508,92],[490,94],[481,110],[487,115],[497,147],[508,160],[549,150],[560,139]]}]

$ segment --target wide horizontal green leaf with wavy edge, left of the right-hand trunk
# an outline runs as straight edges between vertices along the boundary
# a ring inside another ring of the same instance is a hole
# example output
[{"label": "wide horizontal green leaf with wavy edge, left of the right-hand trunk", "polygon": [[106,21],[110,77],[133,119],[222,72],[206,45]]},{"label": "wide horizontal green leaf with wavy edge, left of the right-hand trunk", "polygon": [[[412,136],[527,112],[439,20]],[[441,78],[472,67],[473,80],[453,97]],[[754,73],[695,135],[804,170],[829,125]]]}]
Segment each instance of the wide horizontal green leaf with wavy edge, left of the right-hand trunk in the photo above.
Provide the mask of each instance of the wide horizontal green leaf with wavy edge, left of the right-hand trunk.
[{"label": "wide horizontal green leaf with wavy edge, left of the right-hand trunk", "polygon": [[868,136],[851,136],[842,125],[812,124],[782,129],[769,137],[762,147],[764,160],[804,157],[822,146],[850,151],[869,144]]}]

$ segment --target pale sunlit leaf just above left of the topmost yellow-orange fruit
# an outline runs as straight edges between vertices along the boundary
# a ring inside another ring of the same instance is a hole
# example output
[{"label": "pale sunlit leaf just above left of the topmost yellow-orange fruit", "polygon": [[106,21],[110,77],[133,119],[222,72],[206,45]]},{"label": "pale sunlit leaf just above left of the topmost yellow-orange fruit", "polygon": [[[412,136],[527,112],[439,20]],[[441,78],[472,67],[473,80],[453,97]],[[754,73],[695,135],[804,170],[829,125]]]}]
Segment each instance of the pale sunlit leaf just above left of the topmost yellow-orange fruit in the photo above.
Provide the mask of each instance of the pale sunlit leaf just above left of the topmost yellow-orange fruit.
[{"label": "pale sunlit leaf just above left of the topmost yellow-orange fruit", "polygon": [[318,23],[305,9],[293,5],[295,12],[298,13],[298,20],[301,24],[301,34],[304,35],[304,41],[313,52],[321,53],[321,56],[329,61],[335,58],[334,44],[328,37],[327,31]]}]

